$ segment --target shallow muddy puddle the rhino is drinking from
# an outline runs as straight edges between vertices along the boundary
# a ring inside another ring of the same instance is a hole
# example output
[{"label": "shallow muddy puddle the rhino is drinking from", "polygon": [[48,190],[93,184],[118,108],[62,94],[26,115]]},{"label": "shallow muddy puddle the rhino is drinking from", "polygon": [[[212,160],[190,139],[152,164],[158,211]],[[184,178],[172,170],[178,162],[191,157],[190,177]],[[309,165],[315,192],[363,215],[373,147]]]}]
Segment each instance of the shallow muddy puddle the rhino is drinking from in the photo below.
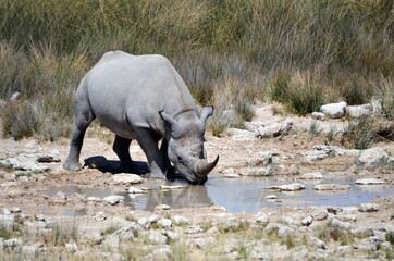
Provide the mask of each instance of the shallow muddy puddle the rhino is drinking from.
[{"label": "shallow muddy puddle the rhino is drinking from", "polygon": [[[279,207],[307,207],[307,206],[357,206],[368,202],[377,197],[394,195],[393,185],[355,185],[354,178],[323,179],[319,182],[301,182],[305,190],[295,192],[279,192],[264,189],[270,185],[283,184],[272,178],[224,178],[212,176],[205,186],[187,186],[182,189],[161,190],[159,183],[145,183],[145,187],[151,187],[148,194],[128,195],[124,190],[114,188],[79,188],[76,186],[51,187],[44,192],[54,196],[62,191],[67,195],[74,192],[104,198],[110,195],[121,195],[132,209],[153,210],[157,204],[169,204],[173,209],[177,208],[200,208],[209,206],[222,206],[230,212],[256,213],[261,208]],[[316,191],[313,186],[319,183],[347,184],[350,186],[346,191]],[[168,183],[168,185],[178,185],[178,183]],[[266,196],[275,195],[275,200],[268,200]],[[65,215],[77,215],[69,211]]]}]

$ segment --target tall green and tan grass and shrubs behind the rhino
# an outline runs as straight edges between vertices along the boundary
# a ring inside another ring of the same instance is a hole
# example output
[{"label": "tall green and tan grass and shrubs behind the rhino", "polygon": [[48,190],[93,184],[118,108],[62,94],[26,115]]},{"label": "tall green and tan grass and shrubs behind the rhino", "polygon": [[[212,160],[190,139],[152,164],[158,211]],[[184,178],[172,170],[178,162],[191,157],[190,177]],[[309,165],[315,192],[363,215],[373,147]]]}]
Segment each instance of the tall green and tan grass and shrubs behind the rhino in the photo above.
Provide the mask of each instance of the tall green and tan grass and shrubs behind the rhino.
[{"label": "tall green and tan grass and shrubs behind the rhino", "polygon": [[[391,0],[0,0],[3,136],[67,136],[73,94],[104,53],[161,53],[211,128],[250,120],[256,99],[299,114],[378,97],[394,111]],[[4,103],[4,102],[3,102]]]}]

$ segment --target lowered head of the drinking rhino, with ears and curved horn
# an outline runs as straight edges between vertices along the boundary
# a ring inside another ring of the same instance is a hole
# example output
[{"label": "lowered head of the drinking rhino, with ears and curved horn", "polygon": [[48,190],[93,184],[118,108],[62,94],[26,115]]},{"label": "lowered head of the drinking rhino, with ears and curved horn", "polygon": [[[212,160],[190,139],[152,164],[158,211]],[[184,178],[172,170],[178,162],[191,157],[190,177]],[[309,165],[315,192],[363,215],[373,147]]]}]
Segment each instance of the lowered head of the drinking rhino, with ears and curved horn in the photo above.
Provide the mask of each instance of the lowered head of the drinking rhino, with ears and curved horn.
[{"label": "lowered head of the drinking rhino, with ears and curved horn", "polygon": [[205,184],[208,174],[219,161],[218,156],[213,162],[208,162],[204,149],[206,121],[212,115],[213,108],[202,108],[199,117],[193,116],[194,112],[190,112],[189,116],[180,117],[177,121],[163,111],[159,113],[168,126],[171,127],[168,148],[171,163],[187,182]]}]

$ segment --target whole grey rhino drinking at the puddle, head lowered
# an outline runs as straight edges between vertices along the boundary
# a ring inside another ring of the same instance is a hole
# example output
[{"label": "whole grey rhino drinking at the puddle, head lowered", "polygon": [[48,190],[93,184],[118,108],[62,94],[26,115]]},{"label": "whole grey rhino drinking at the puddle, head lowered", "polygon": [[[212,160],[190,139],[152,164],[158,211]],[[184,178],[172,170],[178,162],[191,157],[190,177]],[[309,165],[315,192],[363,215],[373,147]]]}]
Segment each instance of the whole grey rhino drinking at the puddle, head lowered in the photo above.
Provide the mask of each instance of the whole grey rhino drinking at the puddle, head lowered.
[{"label": "whole grey rhino drinking at the puddle, head lowered", "polygon": [[133,139],[147,156],[153,177],[170,178],[172,162],[189,183],[204,184],[218,163],[219,156],[209,163],[204,150],[206,121],[213,108],[198,113],[185,83],[164,57],[107,52],[82,79],[75,103],[64,169],[81,170],[84,135],[96,117],[116,135],[113,150],[123,171],[139,173],[128,150]]}]

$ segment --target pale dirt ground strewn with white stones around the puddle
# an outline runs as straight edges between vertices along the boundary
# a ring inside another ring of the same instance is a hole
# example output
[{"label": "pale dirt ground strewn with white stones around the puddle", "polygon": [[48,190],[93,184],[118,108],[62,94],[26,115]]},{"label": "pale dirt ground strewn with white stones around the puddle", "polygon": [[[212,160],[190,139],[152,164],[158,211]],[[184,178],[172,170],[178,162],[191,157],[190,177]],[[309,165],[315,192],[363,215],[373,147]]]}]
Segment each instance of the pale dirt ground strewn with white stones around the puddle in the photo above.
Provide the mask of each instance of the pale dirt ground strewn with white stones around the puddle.
[{"label": "pale dirt ground strewn with white stones around the puddle", "polygon": [[[220,138],[207,134],[210,160],[220,154],[211,176],[270,176],[283,185],[274,188],[276,194],[303,189],[303,181],[319,183],[323,177],[394,186],[394,142],[374,144],[364,151],[347,149],[340,138],[345,120],[273,115],[275,110],[259,104],[246,129],[229,129]],[[133,210],[122,197],[44,192],[66,185],[124,191],[131,186],[164,184],[112,174],[106,169],[118,162],[111,140],[108,132],[93,126],[82,160],[89,159],[87,163],[100,170],[72,173],[61,167],[66,139],[0,139],[2,260],[394,259],[394,195],[358,206],[283,207],[234,214],[221,206],[175,209],[159,204],[155,211],[143,211]],[[136,144],[131,152],[135,160],[145,161]],[[316,189],[348,189],[318,185]]]}]

